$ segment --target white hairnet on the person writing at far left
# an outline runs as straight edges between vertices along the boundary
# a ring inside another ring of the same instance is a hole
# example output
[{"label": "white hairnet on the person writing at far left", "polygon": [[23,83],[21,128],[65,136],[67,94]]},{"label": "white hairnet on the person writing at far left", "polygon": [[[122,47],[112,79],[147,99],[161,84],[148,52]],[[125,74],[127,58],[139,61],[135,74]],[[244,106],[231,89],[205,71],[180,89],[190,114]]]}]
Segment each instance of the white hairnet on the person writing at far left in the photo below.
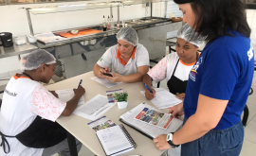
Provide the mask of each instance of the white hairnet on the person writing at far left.
[{"label": "white hairnet on the person writing at far left", "polygon": [[34,70],[39,68],[43,63],[50,65],[56,63],[56,59],[46,50],[37,49],[21,59],[20,68],[22,71]]}]

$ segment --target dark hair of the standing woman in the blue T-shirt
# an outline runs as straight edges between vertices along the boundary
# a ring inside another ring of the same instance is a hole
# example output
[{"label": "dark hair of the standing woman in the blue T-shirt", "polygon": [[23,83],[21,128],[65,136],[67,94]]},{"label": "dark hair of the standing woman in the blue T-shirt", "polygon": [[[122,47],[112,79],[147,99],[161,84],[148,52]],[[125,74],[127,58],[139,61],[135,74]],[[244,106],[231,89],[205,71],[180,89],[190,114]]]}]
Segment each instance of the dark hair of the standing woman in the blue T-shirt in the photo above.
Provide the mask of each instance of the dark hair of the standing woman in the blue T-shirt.
[{"label": "dark hair of the standing woman in the blue T-shirt", "polygon": [[207,36],[207,42],[220,36],[234,36],[230,30],[250,37],[246,4],[242,0],[193,0],[190,4],[196,17],[195,30]]}]

